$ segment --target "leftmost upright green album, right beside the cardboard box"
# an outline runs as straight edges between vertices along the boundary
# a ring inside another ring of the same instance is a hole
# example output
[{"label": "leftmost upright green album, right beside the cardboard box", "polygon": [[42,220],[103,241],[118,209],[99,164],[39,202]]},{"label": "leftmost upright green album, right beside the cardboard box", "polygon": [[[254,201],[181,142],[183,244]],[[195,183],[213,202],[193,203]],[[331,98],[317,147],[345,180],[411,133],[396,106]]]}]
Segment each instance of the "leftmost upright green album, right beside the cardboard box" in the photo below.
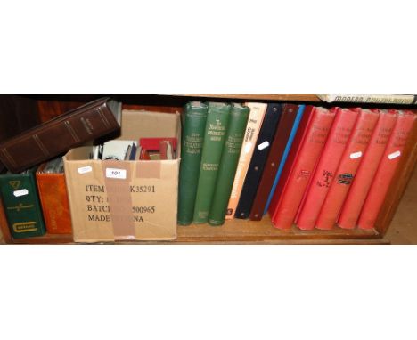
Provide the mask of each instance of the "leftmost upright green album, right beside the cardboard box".
[{"label": "leftmost upright green album, right beside the cardboard box", "polygon": [[178,193],[178,223],[182,225],[191,224],[194,215],[207,112],[208,105],[200,101],[189,102],[184,109]]}]

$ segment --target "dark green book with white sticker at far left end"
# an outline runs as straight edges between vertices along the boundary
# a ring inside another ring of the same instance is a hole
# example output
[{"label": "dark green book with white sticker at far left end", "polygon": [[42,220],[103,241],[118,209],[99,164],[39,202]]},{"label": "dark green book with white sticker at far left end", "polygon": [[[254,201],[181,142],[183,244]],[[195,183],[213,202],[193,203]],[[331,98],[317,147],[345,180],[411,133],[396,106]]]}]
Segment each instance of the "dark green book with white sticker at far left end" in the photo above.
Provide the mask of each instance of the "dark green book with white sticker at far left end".
[{"label": "dark green book with white sticker at far left end", "polygon": [[14,239],[45,234],[45,224],[37,196],[36,168],[21,174],[1,174],[0,194]]}]

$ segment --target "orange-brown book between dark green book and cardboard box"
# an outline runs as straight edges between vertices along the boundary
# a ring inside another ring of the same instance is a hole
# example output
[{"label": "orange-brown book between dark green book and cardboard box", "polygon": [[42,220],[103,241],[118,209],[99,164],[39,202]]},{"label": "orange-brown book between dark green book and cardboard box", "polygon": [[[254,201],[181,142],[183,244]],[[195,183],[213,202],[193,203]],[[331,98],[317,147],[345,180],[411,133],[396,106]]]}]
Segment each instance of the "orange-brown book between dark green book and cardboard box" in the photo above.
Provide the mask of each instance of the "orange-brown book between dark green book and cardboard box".
[{"label": "orange-brown book between dark green book and cardboard box", "polygon": [[48,163],[45,163],[37,169],[37,190],[46,231],[50,234],[70,234],[70,203],[63,168],[62,172],[49,172],[47,166]]}]

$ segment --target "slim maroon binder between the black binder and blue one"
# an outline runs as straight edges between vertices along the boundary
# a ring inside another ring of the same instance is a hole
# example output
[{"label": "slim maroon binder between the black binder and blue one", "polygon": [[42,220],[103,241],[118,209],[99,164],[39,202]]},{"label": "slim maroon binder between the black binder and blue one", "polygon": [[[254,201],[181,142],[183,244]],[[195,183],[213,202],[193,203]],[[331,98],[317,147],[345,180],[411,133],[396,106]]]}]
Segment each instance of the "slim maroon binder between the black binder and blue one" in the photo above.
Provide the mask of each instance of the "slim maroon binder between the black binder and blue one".
[{"label": "slim maroon binder between the black binder and blue one", "polygon": [[250,210],[249,219],[260,221],[264,215],[266,202],[271,190],[273,190],[274,179],[278,172],[280,162],[283,157],[285,147],[290,139],[295,118],[298,113],[298,105],[285,104],[282,108],[282,117],[274,134],[274,140],[269,151],[266,165],[260,179],[258,190]]}]

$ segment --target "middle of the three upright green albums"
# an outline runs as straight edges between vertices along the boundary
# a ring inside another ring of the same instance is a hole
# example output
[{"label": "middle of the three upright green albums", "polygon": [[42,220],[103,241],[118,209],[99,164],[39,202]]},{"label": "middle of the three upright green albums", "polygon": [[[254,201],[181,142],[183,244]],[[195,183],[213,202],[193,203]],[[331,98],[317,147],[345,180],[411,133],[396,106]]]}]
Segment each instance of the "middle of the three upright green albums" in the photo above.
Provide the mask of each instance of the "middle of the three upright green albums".
[{"label": "middle of the three upright green albums", "polygon": [[208,210],[216,185],[218,164],[225,146],[225,133],[231,106],[209,102],[206,129],[201,155],[199,185],[194,206],[194,223],[207,223]]}]

